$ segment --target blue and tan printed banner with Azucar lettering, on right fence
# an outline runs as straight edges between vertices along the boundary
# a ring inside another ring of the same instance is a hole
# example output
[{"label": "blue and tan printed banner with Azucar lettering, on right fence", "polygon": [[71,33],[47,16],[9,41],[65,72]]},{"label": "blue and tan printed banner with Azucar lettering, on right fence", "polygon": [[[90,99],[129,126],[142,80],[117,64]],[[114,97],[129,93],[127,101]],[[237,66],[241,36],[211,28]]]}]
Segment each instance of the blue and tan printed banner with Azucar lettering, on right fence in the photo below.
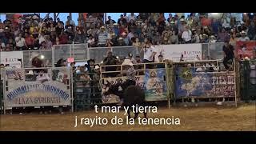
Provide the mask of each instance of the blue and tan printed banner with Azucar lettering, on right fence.
[{"label": "blue and tan printed banner with Azucar lettering, on right fence", "polygon": [[194,68],[176,68],[175,98],[234,97],[234,74],[196,72]]}]

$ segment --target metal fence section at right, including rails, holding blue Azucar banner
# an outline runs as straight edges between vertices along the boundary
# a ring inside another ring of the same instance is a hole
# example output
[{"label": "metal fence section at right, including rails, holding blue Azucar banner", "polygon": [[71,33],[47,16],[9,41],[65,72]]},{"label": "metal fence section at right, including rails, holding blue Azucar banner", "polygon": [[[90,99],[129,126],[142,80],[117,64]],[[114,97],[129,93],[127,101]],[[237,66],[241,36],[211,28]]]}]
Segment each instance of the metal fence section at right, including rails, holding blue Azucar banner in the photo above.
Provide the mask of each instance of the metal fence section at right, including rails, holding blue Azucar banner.
[{"label": "metal fence section at right, including rails, holding blue Azucar banner", "polygon": [[227,72],[222,60],[174,62],[174,70],[175,102],[228,100],[237,105],[235,65],[233,71]]}]

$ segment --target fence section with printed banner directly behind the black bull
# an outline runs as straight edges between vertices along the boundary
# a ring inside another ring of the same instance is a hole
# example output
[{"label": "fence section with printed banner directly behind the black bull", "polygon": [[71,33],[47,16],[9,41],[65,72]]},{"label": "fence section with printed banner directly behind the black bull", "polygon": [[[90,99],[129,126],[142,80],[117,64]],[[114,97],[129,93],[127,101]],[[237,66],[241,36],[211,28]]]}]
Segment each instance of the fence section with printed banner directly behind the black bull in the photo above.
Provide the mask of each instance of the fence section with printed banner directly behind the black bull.
[{"label": "fence section with printed banner directly behind the black bull", "polygon": [[[106,70],[107,68],[116,70]],[[161,68],[160,68],[161,67]],[[136,85],[145,90],[146,101],[167,101],[170,98],[167,86],[166,62],[139,63],[134,65],[137,72]],[[118,103],[120,98],[117,95],[104,95],[104,92],[117,82],[126,80],[122,74],[122,65],[101,66],[102,76],[102,103]]]}]

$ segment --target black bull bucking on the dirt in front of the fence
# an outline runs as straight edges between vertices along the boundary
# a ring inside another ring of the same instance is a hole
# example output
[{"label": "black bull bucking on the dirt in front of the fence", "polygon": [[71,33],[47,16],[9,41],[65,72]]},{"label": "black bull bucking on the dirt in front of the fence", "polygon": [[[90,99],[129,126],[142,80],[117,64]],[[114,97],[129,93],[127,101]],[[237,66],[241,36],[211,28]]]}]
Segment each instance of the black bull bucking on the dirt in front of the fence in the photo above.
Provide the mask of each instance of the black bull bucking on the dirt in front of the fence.
[{"label": "black bull bucking on the dirt in front of the fence", "polygon": [[[119,91],[118,87],[121,86],[122,90]],[[140,86],[127,85],[126,82],[118,82],[110,86],[109,90],[104,93],[104,95],[114,94],[123,98],[123,106],[129,106],[127,111],[128,118],[130,119],[130,110],[132,106],[146,106],[145,92]],[[143,112],[144,118],[146,118],[146,111]],[[134,119],[138,118],[138,112],[134,113]]]}]

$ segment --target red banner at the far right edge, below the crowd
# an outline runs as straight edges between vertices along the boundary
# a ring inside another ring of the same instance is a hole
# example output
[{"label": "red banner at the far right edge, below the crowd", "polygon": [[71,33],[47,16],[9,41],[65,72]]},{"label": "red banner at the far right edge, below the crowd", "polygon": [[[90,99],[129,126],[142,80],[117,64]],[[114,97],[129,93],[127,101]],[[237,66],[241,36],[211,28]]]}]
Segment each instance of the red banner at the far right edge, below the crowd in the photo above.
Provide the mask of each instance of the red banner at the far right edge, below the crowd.
[{"label": "red banner at the far right edge, below the crowd", "polygon": [[238,41],[236,43],[236,57],[237,58],[254,58],[255,57],[255,50],[256,50],[256,41],[247,41],[241,42]]}]

